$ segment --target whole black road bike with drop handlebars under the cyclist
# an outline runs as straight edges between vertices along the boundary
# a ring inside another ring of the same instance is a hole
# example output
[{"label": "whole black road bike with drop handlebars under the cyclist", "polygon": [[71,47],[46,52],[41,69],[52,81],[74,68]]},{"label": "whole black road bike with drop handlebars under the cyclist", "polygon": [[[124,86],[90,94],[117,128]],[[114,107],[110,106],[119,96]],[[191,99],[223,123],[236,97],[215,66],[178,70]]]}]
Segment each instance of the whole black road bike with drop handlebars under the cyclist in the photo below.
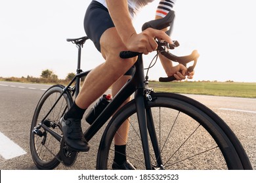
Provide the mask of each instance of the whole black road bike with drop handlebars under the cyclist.
[{"label": "whole black road bike with drop handlebars under the cyclist", "polygon": [[[161,20],[146,22],[142,29],[163,29],[173,24],[174,12]],[[30,148],[39,169],[54,169],[60,163],[71,166],[77,157],[62,139],[59,121],[79,93],[80,79],[90,71],[80,69],[81,48],[88,37],[67,39],[78,48],[77,75],[68,86],[51,86],[41,97],[33,115]],[[186,65],[198,59],[195,50],[178,57],[169,52],[178,42],[158,41],[157,54]],[[177,93],[158,93],[148,88],[148,73],[144,76],[142,54],[121,52],[121,58],[138,56],[135,73],[109,105],[84,132],[90,140],[108,122],[98,146],[96,169],[111,169],[114,158],[114,136],[117,129],[129,120],[127,158],[137,169],[252,169],[244,148],[230,127],[213,112],[194,99]],[[160,78],[167,82],[173,77]],[[130,95],[134,99],[117,108]]]}]

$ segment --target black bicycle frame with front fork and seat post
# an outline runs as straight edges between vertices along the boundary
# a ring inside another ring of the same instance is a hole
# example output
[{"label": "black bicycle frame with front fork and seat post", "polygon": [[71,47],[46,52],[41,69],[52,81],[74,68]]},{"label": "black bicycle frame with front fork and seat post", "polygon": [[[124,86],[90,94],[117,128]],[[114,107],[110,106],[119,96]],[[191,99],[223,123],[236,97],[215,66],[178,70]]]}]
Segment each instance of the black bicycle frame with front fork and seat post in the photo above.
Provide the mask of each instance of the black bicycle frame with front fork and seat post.
[{"label": "black bicycle frame with front fork and seat post", "polygon": [[[79,93],[80,88],[80,80],[83,76],[87,76],[90,71],[83,72],[80,69],[81,65],[81,47],[82,44],[77,44],[78,48],[78,57],[77,57],[77,74],[74,76],[70,84],[64,88],[63,92],[60,94],[56,102],[54,103],[53,108],[56,106],[56,103],[58,103],[60,97],[64,95],[65,92],[68,90],[72,91],[72,94],[77,97]],[[74,88],[70,89],[72,84],[75,82]],[[102,113],[96,118],[95,122],[90,125],[90,127],[85,131],[83,134],[85,139],[89,142],[91,138],[98,132],[98,130],[108,121],[108,119],[111,118],[111,116],[116,112],[117,108],[119,108],[123,102],[131,96],[133,93],[135,93],[135,103],[137,107],[137,115],[138,115],[138,121],[139,121],[139,128],[140,128],[140,136],[142,139],[143,144],[143,150],[144,150],[144,159],[146,162],[146,169],[152,169],[151,161],[150,161],[150,150],[148,145],[148,131],[150,132],[150,139],[152,139],[153,148],[156,153],[156,158],[158,159],[159,165],[161,165],[161,157],[160,157],[160,150],[157,144],[156,139],[156,132],[154,131],[154,126],[152,122],[152,113],[150,110],[145,110],[145,90],[146,90],[146,82],[144,79],[144,65],[142,60],[142,54],[138,56],[137,62],[135,63],[135,73],[132,76],[132,78],[121,88],[121,90],[117,93],[117,95],[112,99],[112,101],[109,103],[109,105],[102,111]],[[51,110],[49,110],[48,114],[43,118],[41,127],[45,129],[45,131],[48,131],[53,135],[58,141],[61,141],[62,137],[49,129],[46,125],[43,124],[43,121],[47,118],[47,116],[51,113]],[[148,128],[147,128],[148,126]]]}]

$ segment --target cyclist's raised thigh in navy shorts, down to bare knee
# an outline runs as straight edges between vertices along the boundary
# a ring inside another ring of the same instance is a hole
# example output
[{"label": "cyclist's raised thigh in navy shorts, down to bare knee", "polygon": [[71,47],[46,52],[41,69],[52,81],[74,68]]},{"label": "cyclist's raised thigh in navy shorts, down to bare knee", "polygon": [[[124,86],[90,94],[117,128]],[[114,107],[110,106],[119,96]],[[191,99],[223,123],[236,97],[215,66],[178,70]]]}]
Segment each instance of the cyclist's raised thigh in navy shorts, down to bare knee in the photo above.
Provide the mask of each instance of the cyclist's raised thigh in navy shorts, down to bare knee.
[{"label": "cyclist's raised thigh in navy shorts, down to bare knee", "polygon": [[[115,61],[120,60],[119,52],[127,49],[119,38],[108,10],[97,1],[92,1],[85,14],[84,26],[87,36],[94,42],[104,59],[110,58],[108,61],[116,64]],[[132,67],[125,75],[133,75],[134,71]]]}]

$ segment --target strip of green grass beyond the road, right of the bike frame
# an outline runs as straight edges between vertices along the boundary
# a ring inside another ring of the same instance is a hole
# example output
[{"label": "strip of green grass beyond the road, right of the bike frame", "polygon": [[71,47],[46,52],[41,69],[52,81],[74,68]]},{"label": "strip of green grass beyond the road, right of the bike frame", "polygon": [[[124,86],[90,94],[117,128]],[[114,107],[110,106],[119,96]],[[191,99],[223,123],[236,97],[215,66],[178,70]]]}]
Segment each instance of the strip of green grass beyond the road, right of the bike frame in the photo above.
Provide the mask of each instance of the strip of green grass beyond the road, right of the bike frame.
[{"label": "strip of green grass beyond the road, right of the bike frame", "polygon": [[157,92],[256,98],[256,83],[246,82],[150,82]]}]

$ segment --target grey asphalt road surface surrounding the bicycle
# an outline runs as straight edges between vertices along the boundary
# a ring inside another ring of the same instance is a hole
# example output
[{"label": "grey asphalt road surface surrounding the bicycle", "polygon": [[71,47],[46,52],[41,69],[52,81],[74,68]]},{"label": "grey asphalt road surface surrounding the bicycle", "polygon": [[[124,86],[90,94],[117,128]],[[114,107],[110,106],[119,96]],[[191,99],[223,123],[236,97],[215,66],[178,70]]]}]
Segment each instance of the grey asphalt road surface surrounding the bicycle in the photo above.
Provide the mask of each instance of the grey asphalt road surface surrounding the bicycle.
[{"label": "grey asphalt road surface surrounding the bicycle", "polygon": [[[14,154],[0,146],[0,169],[37,169],[30,154],[30,125],[41,95],[49,88],[43,84],[0,82],[0,144],[16,149]],[[188,95],[214,110],[237,135],[256,169],[256,99]],[[80,153],[73,167],[57,169],[94,169],[97,139],[90,142],[95,150]],[[6,145],[6,144],[5,144]]]}]

